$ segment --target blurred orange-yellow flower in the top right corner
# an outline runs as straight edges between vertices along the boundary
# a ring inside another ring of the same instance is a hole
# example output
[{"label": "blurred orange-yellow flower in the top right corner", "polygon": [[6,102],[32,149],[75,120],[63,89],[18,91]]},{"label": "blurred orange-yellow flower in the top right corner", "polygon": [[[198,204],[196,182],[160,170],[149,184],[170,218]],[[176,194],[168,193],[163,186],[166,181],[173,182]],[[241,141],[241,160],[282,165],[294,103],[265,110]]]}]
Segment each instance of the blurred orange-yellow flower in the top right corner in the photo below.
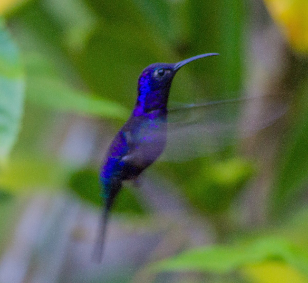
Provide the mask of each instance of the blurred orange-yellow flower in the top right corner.
[{"label": "blurred orange-yellow flower in the top right corner", "polygon": [[297,51],[308,52],[308,1],[264,0],[264,2],[291,46]]}]

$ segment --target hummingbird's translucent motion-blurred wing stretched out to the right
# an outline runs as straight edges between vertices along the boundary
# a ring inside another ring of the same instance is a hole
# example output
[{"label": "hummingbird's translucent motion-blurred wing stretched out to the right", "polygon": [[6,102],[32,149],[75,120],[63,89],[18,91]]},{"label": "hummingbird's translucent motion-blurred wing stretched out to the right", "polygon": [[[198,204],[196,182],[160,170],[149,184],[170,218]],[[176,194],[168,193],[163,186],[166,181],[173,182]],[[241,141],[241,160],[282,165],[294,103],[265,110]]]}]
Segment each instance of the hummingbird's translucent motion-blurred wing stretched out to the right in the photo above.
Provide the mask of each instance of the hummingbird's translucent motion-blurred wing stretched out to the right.
[{"label": "hummingbird's translucent motion-blurred wing stretched out to the right", "polygon": [[287,111],[275,96],[182,105],[168,110],[167,146],[159,160],[184,161],[235,144]]}]

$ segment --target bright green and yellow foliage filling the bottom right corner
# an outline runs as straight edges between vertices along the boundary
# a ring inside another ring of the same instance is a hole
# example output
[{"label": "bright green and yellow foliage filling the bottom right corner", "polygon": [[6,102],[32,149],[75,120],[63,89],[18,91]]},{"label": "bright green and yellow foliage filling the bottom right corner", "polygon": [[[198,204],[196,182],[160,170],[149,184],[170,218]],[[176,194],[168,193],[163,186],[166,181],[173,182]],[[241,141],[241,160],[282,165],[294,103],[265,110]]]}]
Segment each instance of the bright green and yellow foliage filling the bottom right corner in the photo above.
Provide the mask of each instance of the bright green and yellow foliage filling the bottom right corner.
[{"label": "bright green and yellow foliage filling the bottom right corner", "polygon": [[246,235],[229,245],[193,248],[149,266],[149,272],[198,270],[229,277],[238,271],[248,282],[307,282],[307,239],[298,239],[306,220],[305,209],[271,235]]}]

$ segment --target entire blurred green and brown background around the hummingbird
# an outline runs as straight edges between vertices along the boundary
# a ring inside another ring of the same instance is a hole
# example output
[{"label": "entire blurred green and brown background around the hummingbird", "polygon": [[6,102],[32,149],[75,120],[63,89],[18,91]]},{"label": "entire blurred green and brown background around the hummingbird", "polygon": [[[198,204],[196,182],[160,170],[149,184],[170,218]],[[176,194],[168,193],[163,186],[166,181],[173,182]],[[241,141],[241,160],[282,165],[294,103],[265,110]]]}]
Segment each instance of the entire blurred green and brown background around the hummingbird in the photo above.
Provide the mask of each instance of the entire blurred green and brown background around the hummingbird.
[{"label": "entire blurred green and brown background around the hummingbird", "polygon": [[[306,0],[1,0],[0,15],[0,283],[308,282]],[[94,263],[99,166],[140,72],[206,52],[221,55],[185,66],[170,100],[275,95],[288,112],[128,183]]]}]

